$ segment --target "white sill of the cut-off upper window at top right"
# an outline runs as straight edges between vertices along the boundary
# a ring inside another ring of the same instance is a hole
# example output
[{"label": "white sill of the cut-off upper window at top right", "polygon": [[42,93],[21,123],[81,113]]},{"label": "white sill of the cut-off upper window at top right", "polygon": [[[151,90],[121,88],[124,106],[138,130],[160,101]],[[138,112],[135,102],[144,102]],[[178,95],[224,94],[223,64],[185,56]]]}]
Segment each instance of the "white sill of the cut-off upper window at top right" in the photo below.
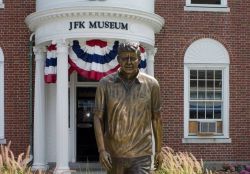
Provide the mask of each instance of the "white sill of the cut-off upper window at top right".
[{"label": "white sill of the cut-off upper window at top right", "polygon": [[184,6],[184,11],[208,11],[208,12],[230,12],[229,7],[199,7],[199,6]]}]

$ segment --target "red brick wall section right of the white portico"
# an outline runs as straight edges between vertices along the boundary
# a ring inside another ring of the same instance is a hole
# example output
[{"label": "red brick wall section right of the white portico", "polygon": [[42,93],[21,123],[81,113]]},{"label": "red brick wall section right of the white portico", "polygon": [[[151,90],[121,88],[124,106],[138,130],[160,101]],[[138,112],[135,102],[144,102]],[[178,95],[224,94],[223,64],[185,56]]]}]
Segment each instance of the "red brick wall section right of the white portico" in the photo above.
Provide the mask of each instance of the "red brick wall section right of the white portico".
[{"label": "red brick wall section right of the white portico", "polygon": [[[250,1],[229,0],[229,13],[184,11],[185,0],[157,0],[166,24],[156,37],[155,76],[163,100],[164,143],[204,160],[250,160]],[[182,144],[184,53],[198,38],[220,41],[230,54],[231,144]]]}]

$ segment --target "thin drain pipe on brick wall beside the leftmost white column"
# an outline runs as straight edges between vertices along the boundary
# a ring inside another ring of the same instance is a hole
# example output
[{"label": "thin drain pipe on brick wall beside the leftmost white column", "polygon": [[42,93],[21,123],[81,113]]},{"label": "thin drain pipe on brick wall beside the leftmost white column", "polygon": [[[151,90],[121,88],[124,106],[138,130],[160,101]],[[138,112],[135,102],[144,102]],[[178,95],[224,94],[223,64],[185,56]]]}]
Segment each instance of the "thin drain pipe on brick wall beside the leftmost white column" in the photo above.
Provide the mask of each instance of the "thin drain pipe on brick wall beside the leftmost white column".
[{"label": "thin drain pipe on brick wall beside the leftmost white column", "polygon": [[33,46],[35,33],[29,39],[29,128],[30,128],[30,162],[33,163]]}]

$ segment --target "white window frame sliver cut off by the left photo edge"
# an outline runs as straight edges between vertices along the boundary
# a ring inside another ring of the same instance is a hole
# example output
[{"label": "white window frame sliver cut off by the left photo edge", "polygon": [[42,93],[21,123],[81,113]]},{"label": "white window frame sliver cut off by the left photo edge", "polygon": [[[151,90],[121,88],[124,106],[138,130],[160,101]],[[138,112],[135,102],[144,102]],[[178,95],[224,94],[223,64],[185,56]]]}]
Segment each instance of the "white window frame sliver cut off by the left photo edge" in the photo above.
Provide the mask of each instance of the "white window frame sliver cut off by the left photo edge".
[{"label": "white window frame sliver cut off by the left photo edge", "polygon": [[4,55],[0,47],[0,144],[5,144],[4,135]]}]

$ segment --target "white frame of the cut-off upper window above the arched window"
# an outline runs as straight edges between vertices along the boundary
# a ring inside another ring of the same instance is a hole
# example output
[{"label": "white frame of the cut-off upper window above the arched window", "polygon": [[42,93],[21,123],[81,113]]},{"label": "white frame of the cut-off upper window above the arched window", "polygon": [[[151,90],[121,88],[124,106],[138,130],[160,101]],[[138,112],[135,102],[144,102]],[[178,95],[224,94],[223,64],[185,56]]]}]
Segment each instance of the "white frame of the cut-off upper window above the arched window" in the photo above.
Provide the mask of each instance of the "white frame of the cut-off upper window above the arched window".
[{"label": "white frame of the cut-off upper window above the arched window", "polygon": [[221,4],[192,4],[191,0],[186,0],[185,11],[211,11],[211,12],[230,12],[227,0],[221,0]]}]

